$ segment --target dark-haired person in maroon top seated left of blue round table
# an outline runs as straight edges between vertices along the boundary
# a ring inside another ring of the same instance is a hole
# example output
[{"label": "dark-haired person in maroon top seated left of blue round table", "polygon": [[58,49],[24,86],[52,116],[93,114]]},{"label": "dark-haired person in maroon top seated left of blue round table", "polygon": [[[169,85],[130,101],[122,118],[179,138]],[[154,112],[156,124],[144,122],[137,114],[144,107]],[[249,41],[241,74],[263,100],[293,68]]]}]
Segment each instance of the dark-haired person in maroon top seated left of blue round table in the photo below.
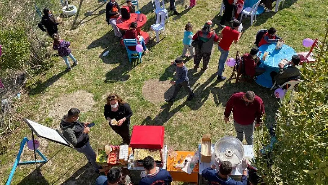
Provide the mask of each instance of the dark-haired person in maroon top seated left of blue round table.
[{"label": "dark-haired person in maroon top seated left of blue round table", "polygon": [[256,77],[265,72],[264,68],[258,66],[260,64],[260,58],[257,57],[257,52],[257,48],[252,48],[251,53],[245,53],[242,57],[244,61],[245,73],[250,77]]}]

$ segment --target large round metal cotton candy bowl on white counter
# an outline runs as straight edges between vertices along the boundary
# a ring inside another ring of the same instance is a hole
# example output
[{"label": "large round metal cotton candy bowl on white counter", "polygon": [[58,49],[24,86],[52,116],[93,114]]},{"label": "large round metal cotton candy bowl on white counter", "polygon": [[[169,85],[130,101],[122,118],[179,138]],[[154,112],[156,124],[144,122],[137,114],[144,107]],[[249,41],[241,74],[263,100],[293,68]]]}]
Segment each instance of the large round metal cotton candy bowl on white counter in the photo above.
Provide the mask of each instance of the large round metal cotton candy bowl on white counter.
[{"label": "large round metal cotton candy bowl on white counter", "polygon": [[245,155],[243,144],[233,136],[224,136],[216,141],[214,151],[216,157],[221,161],[230,161],[233,167],[236,167]]}]

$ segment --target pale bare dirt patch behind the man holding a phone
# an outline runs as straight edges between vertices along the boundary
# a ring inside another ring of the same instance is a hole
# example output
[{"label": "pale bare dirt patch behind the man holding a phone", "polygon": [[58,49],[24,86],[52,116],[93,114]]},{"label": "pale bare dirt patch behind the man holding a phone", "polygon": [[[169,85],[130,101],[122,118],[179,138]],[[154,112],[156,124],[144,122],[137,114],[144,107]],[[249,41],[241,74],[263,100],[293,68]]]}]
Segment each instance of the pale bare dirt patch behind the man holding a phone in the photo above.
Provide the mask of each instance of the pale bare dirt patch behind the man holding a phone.
[{"label": "pale bare dirt patch behind the man holding a phone", "polygon": [[60,119],[67,114],[70,108],[78,108],[81,112],[87,112],[95,104],[93,95],[87,91],[75,91],[72,94],[59,97],[49,111],[49,117]]}]

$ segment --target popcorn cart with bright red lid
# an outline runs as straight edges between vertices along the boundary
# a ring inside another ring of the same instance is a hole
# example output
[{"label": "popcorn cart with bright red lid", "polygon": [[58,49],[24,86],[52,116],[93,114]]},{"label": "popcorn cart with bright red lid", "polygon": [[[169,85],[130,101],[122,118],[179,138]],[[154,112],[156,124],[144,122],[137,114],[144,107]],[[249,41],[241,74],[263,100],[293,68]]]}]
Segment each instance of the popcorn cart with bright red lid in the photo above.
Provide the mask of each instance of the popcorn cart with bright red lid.
[{"label": "popcorn cart with bright red lid", "polygon": [[159,169],[166,169],[167,146],[164,145],[163,126],[133,126],[129,147],[133,153],[129,156],[128,170],[134,184],[140,181],[140,173],[144,171],[142,161],[152,156]]}]

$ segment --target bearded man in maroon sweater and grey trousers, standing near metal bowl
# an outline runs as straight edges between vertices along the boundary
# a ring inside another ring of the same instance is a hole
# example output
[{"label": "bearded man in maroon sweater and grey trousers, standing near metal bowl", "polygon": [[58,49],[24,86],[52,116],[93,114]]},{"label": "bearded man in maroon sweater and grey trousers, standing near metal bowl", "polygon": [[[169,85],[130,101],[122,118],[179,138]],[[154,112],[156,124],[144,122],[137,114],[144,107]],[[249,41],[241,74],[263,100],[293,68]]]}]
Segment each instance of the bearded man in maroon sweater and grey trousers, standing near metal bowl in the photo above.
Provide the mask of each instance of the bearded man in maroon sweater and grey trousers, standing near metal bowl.
[{"label": "bearded man in maroon sweater and grey trousers, standing near metal bowl", "polygon": [[231,111],[234,116],[234,126],[237,132],[237,138],[242,141],[245,139],[248,145],[253,145],[253,131],[256,121],[256,127],[260,126],[262,115],[264,114],[264,104],[260,97],[256,96],[253,91],[246,93],[239,92],[233,94],[224,111],[224,121],[229,122]]}]

